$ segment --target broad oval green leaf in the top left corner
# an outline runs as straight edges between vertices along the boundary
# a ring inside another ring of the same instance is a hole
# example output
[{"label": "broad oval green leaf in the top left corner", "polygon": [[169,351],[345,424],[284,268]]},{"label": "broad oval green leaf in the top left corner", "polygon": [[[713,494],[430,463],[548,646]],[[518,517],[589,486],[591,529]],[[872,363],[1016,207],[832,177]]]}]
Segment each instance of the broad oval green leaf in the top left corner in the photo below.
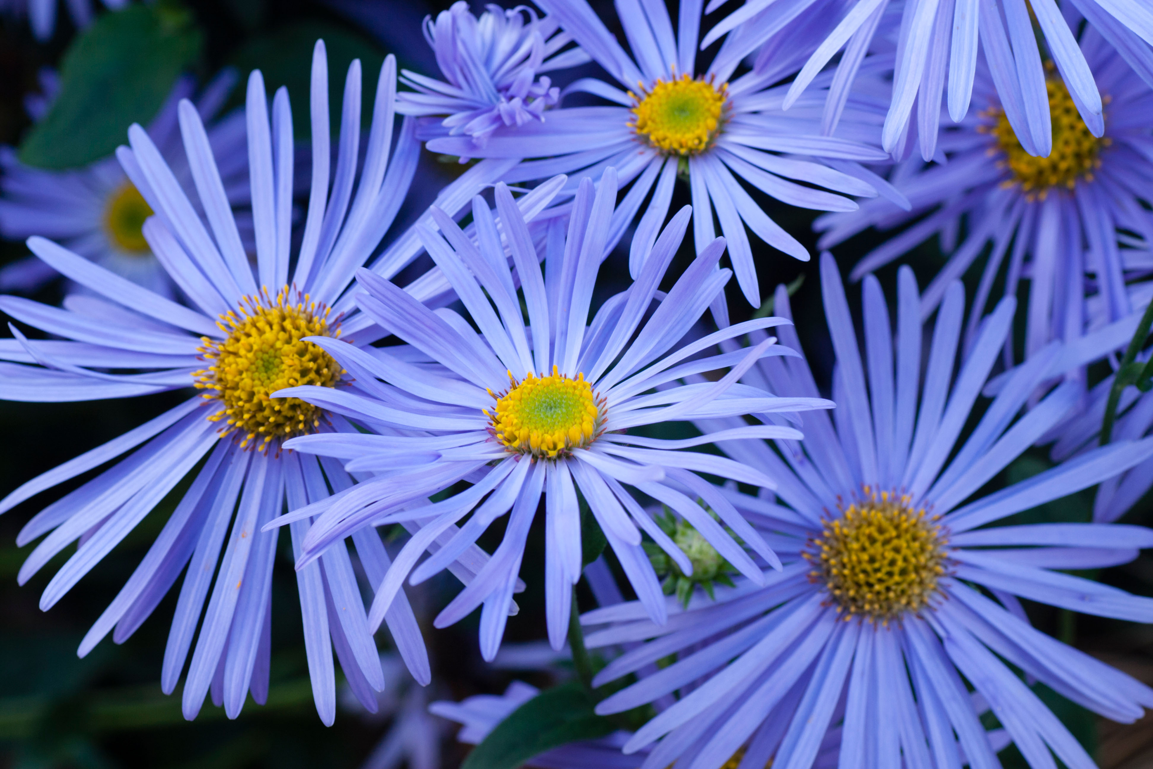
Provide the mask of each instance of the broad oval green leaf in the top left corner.
[{"label": "broad oval green leaf in the top left corner", "polygon": [[21,161],[70,168],[112,154],[129,126],[156,116],[201,42],[193,14],[174,2],[101,14],[65,54],[60,93],[29,130]]}]

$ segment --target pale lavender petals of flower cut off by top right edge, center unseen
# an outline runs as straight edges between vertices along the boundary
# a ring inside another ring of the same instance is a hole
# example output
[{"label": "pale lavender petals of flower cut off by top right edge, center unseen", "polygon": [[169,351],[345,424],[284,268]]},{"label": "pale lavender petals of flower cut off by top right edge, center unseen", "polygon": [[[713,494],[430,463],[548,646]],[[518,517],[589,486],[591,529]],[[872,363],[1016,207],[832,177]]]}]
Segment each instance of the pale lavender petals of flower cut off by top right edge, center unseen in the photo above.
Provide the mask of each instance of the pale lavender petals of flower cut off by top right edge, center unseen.
[{"label": "pale lavender petals of flower cut off by top right edge, center unseen", "polygon": [[[707,10],[719,5],[718,0],[711,0]],[[1049,133],[1052,105],[1047,81],[1054,77],[1068,91],[1092,135],[1101,135],[1106,101],[1094,83],[1093,59],[1084,51],[1084,40],[1078,46],[1073,32],[1083,21],[1088,22],[1087,29],[1094,30],[1102,44],[1121,52],[1124,62],[1118,60],[1118,66],[1128,63],[1153,85],[1153,51],[1148,47],[1153,44],[1153,12],[1135,0],[1073,0],[1061,3],[1060,9],[1049,0],[930,0],[902,3],[890,14],[887,0],[851,3],[802,0],[785,14],[771,5],[771,0],[746,2],[718,22],[706,43],[739,30],[748,45],[763,44],[754,67],[754,71],[761,73],[773,68],[777,58],[787,58],[798,47],[798,39],[811,40],[815,51],[790,86],[786,107],[844,48],[834,75],[842,86],[829,96],[829,111],[836,113],[849,98],[851,84],[874,40],[891,37],[897,59],[882,145],[894,151],[904,136],[919,133],[926,160],[934,154],[945,90],[952,121],[963,122],[969,113],[978,78],[978,40],[985,61],[993,68],[990,88],[995,86],[998,100],[1007,105],[1022,146],[1032,156],[1046,157],[1050,149],[1061,145],[1061,140]],[[887,15],[891,18],[887,20]],[[793,17],[797,17],[794,23],[784,23]],[[800,27],[802,23],[806,27]],[[1046,71],[1042,66],[1038,32],[1055,73]],[[917,120],[912,120],[914,103]]]}]

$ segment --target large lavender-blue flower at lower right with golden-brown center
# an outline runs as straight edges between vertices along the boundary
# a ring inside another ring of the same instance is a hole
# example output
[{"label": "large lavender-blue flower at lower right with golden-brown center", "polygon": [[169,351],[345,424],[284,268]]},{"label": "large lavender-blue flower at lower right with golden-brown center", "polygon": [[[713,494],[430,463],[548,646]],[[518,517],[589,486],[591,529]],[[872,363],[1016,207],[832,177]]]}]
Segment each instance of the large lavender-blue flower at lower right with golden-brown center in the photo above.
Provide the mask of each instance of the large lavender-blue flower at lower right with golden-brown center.
[{"label": "large lavender-blue flower at lower right with golden-brown center", "polygon": [[[651,639],[600,672],[594,684],[658,670],[612,694],[612,714],[670,693],[680,698],[625,745],[660,740],[647,769],[717,769],[744,749],[743,769],[805,769],[830,732],[842,767],[998,767],[979,713],[982,702],[1030,766],[1093,767],[1085,749],[1026,686],[1031,676],[1062,696],[1121,722],[1153,707],[1153,689],[1035,631],[1018,598],[1100,617],[1153,620],[1153,598],[1063,573],[1131,560],[1153,531],[1106,523],[998,525],[1153,457],[1153,439],[1086,452],[1000,491],[981,488],[1068,414],[1075,383],[1015,419],[1060,353],[1054,342],[1008,378],[958,437],[1003,338],[1013,300],[986,319],[955,372],[964,291],[954,282],[925,349],[912,271],[899,273],[896,342],[880,284],[864,287],[865,360],[841,278],[822,257],[822,293],[836,352],[830,421],[806,415],[804,443],[719,444],[778,482],[778,499],[724,489],[785,563],[766,583],[740,579],[698,595],[686,611],[670,600],[660,626],[636,604],[597,610],[590,646]],[[789,314],[778,289],[777,309]],[[787,327],[786,342],[794,341]],[[922,375],[924,371],[924,375]],[[802,359],[761,361],[754,384],[815,392]],[[703,431],[731,420],[699,422]],[[734,423],[733,423],[734,424]],[[675,661],[670,662],[670,655]],[[964,678],[962,678],[964,677]],[[966,684],[967,681],[967,684]]]}]

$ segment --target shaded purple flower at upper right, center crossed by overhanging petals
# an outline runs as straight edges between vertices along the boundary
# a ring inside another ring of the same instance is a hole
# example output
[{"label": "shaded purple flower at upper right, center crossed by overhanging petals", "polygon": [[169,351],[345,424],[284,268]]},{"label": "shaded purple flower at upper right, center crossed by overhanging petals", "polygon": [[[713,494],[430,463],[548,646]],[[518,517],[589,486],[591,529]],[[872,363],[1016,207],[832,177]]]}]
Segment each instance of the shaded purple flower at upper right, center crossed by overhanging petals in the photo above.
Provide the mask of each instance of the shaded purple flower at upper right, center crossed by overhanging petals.
[{"label": "shaded purple flower at upper right, center crossed by overhanging petals", "polygon": [[[980,112],[941,135],[948,164],[911,159],[891,174],[912,210],[869,201],[859,211],[822,217],[815,225],[824,233],[820,246],[841,243],[868,227],[913,223],[866,255],[853,269],[856,279],[926,239],[940,238],[951,256],[921,299],[927,311],[988,247],[966,347],[1002,276],[1007,296],[1028,281],[1026,355],[1053,339],[1071,342],[1088,329],[1129,315],[1125,281],[1146,276],[1153,265],[1153,217],[1144,204],[1150,198],[1146,180],[1153,175],[1147,154],[1153,91],[1093,28],[1082,36],[1082,47],[1106,95],[1103,135],[1085,128],[1069,91],[1050,70],[1054,149],[1049,157],[1033,157],[1007,118],[989,69],[981,67],[975,84]],[[1005,344],[1011,359],[1011,340]]]}]

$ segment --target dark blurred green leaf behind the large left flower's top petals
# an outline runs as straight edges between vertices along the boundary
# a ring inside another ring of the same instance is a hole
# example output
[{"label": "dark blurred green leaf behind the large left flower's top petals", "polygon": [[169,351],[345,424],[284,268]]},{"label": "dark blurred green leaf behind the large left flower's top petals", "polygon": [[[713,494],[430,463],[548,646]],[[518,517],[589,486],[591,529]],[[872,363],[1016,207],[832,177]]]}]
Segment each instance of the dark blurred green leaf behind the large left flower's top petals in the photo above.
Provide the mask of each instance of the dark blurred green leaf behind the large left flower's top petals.
[{"label": "dark blurred green leaf behind the large left flower's top petals", "polygon": [[[353,59],[360,59],[361,126],[367,129],[372,123],[376,81],[380,74],[380,65],[384,63],[385,52],[366,38],[336,24],[300,22],[253,38],[229,62],[240,70],[244,80],[251,70],[259,69],[264,75],[264,88],[270,97],[281,85],[288,88],[294,113],[293,127],[296,138],[301,141],[311,137],[308,98],[311,90],[312,48],[318,39],[324,40],[324,48],[329,55],[329,128],[333,136],[340,129],[345,76]],[[243,101],[244,89],[239,88],[233,95],[231,105],[240,106]]]}]

